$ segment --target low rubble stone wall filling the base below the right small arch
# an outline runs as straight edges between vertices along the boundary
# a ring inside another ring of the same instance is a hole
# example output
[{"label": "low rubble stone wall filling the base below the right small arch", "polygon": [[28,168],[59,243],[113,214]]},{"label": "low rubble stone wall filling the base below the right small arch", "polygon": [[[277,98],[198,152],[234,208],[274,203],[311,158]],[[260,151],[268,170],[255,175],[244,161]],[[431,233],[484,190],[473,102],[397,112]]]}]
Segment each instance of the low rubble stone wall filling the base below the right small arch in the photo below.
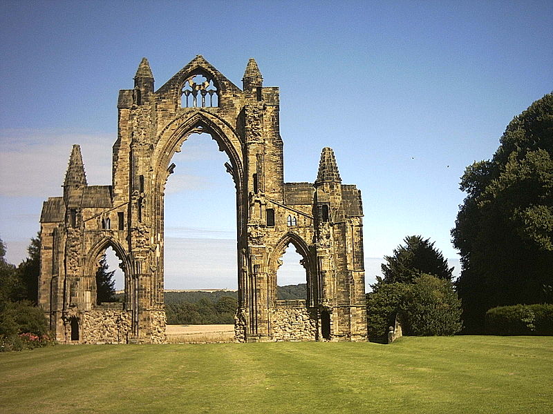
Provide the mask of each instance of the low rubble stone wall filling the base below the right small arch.
[{"label": "low rubble stone wall filling the base below the right small arch", "polygon": [[[317,316],[306,308],[306,301],[278,301],[270,311],[272,339],[276,341],[315,341]],[[315,311],[316,312],[316,311]]]}]

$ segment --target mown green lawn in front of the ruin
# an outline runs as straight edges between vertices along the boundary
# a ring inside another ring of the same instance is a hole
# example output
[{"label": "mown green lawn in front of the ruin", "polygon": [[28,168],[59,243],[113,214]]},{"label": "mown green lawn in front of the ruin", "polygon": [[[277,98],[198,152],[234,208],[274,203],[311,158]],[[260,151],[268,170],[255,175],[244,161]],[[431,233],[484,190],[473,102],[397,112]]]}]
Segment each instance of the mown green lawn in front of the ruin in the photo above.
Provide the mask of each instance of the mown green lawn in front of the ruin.
[{"label": "mown green lawn in front of the ruin", "polygon": [[553,337],[55,346],[0,354],[1,413],[551,413]]}]

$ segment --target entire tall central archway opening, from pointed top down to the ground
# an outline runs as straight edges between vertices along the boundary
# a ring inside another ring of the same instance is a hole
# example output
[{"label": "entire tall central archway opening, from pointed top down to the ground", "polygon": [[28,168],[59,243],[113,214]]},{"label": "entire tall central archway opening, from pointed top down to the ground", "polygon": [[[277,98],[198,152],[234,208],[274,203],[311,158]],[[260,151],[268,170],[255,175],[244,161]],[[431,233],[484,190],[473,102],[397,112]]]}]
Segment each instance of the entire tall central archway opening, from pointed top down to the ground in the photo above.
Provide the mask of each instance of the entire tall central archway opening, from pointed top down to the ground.
[{"label": "entire tall central archway opening, from pointed top down to the ground", "polygon": [[185,137],[171,158],[163,215],[169,342],[234,337],[236,188],[225,172],[229,162],[207,132]]}]

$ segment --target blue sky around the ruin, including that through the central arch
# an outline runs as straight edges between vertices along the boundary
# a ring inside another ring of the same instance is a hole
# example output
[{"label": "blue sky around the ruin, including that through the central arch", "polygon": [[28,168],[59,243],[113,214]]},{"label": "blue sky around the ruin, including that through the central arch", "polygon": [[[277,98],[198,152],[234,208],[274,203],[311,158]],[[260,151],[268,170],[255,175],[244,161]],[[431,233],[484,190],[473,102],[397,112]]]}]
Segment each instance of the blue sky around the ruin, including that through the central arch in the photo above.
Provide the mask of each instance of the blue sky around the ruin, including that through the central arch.
[{"label": "blue sky around the ruin, including that through the central arch", "polygon": [[[62,194],[71,144],[82,145],[88,183],[111,184],[118,90],[132,88],[140,59],[159,87],[195,55],[238,86],[254,57],[265,86],[280,87],[286,181],[313,181],[321,148],[334,148],[344,183],[363,193],[369,281],[406,235],[430,237],[456,259],[449,230],[464,198],[459,178],[553,89],[552,27],[552,1],[4,2],[8,259],[24,257],[41,202]],[[186,262],[217,246],[235,266],[225,155],[200,138],[183,146],[170,183],[167,257]],[[214,192],[227,201],[214,203]],[[213,268],[174,274],[166,287],[236,286],[234,268],[225,269],[215,269],[218,279]]]}]

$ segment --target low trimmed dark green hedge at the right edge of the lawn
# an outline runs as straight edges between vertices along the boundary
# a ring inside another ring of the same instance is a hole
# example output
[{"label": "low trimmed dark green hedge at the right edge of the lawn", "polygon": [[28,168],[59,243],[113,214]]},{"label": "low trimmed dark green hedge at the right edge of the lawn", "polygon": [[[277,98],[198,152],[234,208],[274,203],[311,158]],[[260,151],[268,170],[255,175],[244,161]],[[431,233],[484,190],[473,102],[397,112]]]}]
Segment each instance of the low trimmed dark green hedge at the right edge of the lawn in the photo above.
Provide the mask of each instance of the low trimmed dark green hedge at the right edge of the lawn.
[{"label": "low trimmed dark green hedge at the right edge of the lawn", "polygon": [[553,304],[491,308],[485,326],[490,335],[553,335]]}]

